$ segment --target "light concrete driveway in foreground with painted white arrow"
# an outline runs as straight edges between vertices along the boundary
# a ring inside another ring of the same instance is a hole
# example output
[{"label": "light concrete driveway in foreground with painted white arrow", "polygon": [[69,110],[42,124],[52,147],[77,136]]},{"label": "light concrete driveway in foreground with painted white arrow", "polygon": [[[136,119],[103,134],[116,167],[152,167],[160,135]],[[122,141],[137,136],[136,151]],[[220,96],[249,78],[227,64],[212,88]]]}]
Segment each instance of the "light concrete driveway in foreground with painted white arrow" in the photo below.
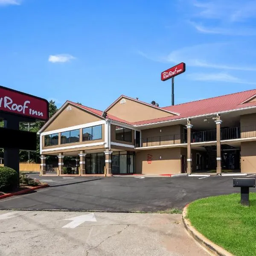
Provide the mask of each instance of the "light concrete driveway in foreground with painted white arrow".
[{"label": "light concrete driveway in foreground with painted white arrow", "polygon": [[209,255],[181,214],[0,211],[0,226],[1,255]]}]

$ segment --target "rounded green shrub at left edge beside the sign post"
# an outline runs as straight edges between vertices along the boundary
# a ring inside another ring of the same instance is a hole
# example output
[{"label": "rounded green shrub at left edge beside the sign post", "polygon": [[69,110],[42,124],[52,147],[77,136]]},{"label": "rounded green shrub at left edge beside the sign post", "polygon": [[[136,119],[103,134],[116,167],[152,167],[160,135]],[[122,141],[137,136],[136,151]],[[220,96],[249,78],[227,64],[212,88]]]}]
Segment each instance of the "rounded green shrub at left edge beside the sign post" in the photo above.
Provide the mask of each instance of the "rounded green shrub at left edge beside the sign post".
[{"label": "rounded green shrub at left edge beside the sign post", "polygon": [[19,175],[9,167],[0,167],[0,190],[10,191],[18,186]]}]

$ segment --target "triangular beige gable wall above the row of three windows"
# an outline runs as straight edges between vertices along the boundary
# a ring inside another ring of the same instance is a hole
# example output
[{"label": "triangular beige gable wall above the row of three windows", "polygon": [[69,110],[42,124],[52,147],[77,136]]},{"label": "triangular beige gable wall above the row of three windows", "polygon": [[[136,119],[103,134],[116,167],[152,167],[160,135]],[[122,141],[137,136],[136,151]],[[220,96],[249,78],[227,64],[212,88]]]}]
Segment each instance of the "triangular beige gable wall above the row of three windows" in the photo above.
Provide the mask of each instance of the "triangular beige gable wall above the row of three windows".
[{"label": "triangular beige gable wall above the row of three windows", "polygon": [[53,131],[61,128],[66,128],[75,125],[86,124],[90,122],[100,121],[99,117],[93,115],[92,113],[87,113],[73,105],[67,105],[71,107],[71,111],[67,111],[64,108],[58,116],[44,129],[44,131]]}]

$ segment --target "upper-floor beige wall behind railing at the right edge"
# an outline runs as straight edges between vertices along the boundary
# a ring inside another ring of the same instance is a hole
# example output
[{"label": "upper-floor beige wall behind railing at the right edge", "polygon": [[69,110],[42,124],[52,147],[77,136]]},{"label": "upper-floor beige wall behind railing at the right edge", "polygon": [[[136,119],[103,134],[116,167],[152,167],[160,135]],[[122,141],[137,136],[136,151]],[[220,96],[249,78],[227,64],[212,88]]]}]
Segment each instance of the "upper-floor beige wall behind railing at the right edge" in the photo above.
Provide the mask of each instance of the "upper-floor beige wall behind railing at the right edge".
[{"label": "upper-floor beige wall behind railing at the right edge", "polygon": [[256,113],[240,118],[241,138],[256,137]]}]

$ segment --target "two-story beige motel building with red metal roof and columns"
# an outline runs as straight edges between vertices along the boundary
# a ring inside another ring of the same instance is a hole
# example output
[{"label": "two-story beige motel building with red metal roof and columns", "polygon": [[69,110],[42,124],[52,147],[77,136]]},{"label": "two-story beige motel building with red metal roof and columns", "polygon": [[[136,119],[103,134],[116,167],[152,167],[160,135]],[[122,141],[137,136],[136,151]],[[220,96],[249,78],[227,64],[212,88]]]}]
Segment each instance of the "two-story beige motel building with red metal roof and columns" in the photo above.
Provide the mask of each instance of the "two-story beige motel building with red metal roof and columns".
[{"label": "two-story beige motel building with red metal roof and columns", "polygon": [[256,173],[256,90],[168,107],[122,95],[104,111],[67,101],[39,134],[41,175]]}]

